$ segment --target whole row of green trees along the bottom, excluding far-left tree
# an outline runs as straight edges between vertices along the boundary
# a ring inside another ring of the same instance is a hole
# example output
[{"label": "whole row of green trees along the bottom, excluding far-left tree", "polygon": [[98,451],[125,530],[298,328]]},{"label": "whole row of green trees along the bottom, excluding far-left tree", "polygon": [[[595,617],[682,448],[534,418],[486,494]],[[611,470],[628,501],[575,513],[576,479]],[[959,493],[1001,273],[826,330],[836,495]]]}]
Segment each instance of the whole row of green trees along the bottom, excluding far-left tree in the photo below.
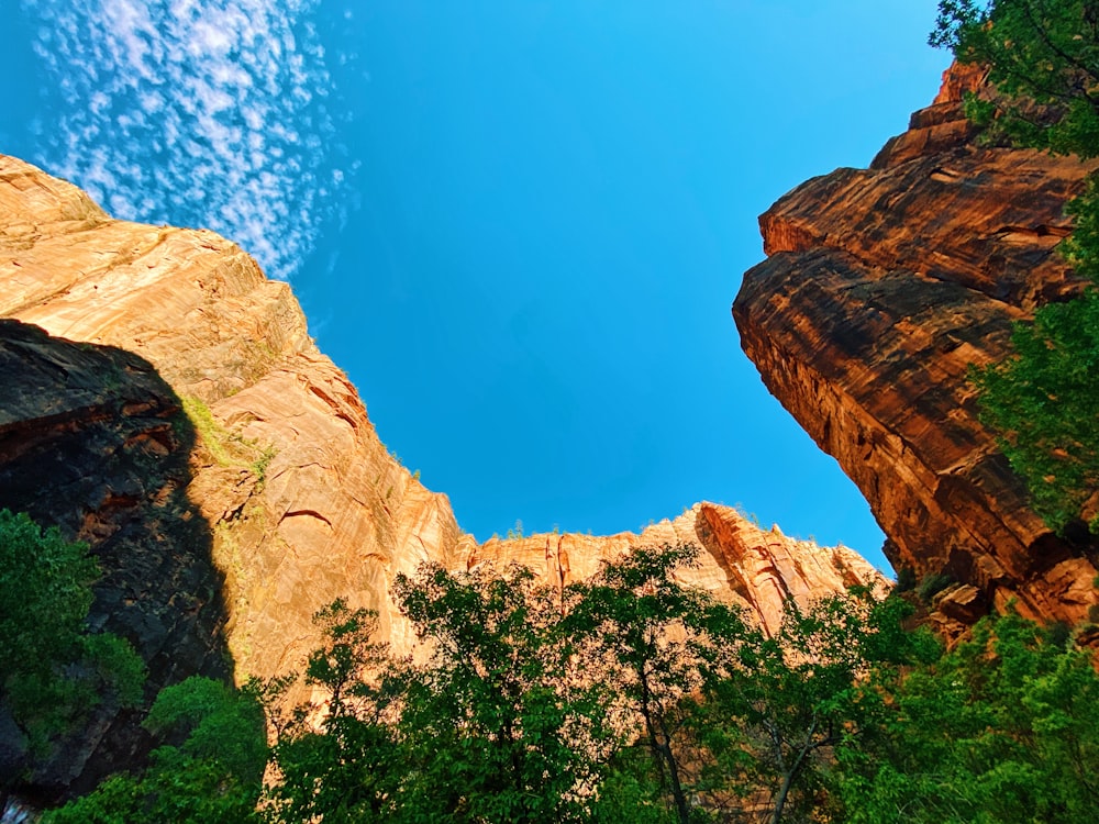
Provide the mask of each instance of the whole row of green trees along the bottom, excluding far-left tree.
[{"label": "whole row of green trees along the bottom, excluding far-left tree", "polygon": [[[1099,676],[1068,634],[1009,614],[943,654],[907,602],[859,590],[767,632],[678,582],[696,560],[637,549],[568,587],[425,565],[396,594],[428,659],[393,659],[377,616],[336,601],[301,679],[162,691],[149,769],[46,821],[1099,817]],[[289,704],[295,683],[313,700]]]}]

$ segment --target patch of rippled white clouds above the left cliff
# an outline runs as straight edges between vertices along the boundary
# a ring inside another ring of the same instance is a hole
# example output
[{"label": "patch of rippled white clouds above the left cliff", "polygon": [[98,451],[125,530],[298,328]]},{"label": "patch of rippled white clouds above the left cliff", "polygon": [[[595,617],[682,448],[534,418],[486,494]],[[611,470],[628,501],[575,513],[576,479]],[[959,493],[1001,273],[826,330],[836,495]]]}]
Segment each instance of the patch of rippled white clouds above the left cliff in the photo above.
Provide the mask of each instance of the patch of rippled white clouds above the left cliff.
[{"label": "patch of rippled white clouds above the left cliff", "polygon": [[51,88],[42,160],[130,220],[204,226],[291,277],[346,149],[318,0],[23,0]]}]

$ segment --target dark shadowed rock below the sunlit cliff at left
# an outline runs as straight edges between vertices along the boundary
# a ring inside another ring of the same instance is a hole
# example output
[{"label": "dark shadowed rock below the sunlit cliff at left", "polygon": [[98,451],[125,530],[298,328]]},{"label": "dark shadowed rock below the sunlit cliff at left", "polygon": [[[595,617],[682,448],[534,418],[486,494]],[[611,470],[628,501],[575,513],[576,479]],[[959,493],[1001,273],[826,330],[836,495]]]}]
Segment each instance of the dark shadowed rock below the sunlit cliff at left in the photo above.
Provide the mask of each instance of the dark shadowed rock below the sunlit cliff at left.
[{"label": "dark shadowed rock below the sunlit cliff at left", "polygon": [[[89,544],[102,571],[91,628],[133,644],[148,699],[193,673],[230,676],[223,576],[187,494],[195,433],[170,387],[135,355],[12,320],[0,320],[0,508]],[[104,702],[24,792],[79,792],[125,767],[148,746],[140,720]],[[0,739],[20,751],[18,731]]]}]

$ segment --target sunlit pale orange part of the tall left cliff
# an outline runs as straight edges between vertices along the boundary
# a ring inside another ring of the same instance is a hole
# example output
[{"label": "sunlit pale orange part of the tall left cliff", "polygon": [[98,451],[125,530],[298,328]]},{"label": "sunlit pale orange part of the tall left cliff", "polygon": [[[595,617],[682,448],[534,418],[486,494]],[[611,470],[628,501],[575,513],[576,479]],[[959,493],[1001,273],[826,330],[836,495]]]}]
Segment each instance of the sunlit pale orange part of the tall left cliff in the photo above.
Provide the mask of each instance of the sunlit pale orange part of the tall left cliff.
[{"label": "sunlit pale orange part of the tall left cliff", "polygon": [[112,220],[0,156],[4,315],[134,353],[180,398],[198,435],[186,492],[225,578],[238,678],[298,667],[311,616],[337,597],[378,610],[407,647],[393,577],[474,543],[388,454],[289,286],[211,232]]}]

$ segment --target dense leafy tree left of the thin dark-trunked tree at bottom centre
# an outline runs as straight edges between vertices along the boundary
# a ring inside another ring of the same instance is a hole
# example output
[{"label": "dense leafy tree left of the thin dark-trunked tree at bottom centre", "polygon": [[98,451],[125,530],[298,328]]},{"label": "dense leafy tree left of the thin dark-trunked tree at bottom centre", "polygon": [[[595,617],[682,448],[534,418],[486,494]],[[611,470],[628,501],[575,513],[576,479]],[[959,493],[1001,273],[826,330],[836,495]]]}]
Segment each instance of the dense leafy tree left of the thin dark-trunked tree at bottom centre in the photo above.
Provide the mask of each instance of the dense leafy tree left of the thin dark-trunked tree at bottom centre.
[{"label": "dense leafy tree left of the thin dark-trunked tree at bottom centre", "polygon": [[586,821],[613,745],[556,588],[523,567],[425,565],[395,593],[431,660],[408,670],[400,727],[411,821]]}]

